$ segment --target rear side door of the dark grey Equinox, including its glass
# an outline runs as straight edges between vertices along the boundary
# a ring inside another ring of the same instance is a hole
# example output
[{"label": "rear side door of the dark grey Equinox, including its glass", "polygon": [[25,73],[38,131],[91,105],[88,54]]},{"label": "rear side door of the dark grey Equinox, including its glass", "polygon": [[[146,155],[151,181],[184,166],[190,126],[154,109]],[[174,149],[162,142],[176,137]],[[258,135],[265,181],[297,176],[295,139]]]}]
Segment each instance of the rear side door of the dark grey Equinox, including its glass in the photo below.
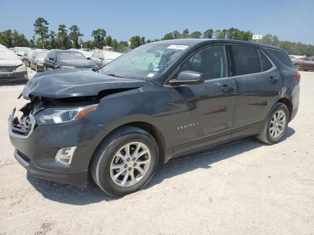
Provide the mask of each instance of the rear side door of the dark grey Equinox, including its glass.
[{"label": "rear side door of the dark grey Equinox, including its glass", "polygon": [[233,45],[236,68],[232,139],[257,134],[270,106],[278,98],[282,79],[273,62],[256,47]]}]

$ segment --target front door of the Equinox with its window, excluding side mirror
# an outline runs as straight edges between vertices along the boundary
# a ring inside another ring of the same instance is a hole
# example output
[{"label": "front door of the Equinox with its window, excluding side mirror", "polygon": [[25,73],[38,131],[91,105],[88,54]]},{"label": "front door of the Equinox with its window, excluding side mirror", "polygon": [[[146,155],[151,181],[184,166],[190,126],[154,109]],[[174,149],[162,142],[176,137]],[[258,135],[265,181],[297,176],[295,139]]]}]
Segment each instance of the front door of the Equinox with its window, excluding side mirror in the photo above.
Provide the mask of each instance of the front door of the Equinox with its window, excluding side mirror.
[{"label": "front door of the Equinox with its window, excluding side mirror", "polygon": [[180,71],[206,75],[204,84],[169,86],[174,156],[228,141],[235,106],[235,82],[227,77],[224,45],[205,47],[190,56]]}]

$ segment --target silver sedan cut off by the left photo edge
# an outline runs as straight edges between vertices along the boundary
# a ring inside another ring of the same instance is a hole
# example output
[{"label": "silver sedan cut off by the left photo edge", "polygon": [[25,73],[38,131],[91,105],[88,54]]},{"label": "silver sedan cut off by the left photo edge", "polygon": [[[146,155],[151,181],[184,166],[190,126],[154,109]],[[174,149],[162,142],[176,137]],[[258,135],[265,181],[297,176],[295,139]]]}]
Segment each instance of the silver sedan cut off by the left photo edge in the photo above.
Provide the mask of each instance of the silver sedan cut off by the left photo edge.
[{"label": "silver sedan cut off by the left photo edge", "polygon": [[14,51],[0,49],[0,82],[27,80],[27,69],[22,60]]}]

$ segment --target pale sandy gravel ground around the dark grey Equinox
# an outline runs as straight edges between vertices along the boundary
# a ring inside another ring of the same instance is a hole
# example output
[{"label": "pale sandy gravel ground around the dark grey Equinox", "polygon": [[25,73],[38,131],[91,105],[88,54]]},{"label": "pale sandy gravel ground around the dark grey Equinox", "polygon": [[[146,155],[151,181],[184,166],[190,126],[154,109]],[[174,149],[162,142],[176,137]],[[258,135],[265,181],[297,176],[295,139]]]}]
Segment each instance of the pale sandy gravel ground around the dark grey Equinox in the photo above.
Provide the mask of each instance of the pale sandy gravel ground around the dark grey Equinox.
[{"label": "pale sandy gravel ground around the dark grey Equinox", "polygon": [[7,126],[23,85],[0,84],[0,234],[313,235],[314,72],[301,76],[282,142],[250,137],[171,160],[123,198],[27,174]]}]

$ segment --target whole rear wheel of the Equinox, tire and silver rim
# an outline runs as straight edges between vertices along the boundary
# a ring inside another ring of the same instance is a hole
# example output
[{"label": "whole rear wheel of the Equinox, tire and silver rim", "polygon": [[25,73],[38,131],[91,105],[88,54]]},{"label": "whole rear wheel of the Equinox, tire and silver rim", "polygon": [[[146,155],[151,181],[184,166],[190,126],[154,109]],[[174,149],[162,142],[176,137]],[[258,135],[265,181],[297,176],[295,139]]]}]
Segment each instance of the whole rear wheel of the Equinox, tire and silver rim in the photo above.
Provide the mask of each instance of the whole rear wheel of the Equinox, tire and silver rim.
[{"label": "whole rear wheel of the Equinox, tire and silver rim", "polygon": [[289,111],[285,104],[276,102],[262,123],[257,139],[261,142],[274,144],[285,135],[289,121]]}]

